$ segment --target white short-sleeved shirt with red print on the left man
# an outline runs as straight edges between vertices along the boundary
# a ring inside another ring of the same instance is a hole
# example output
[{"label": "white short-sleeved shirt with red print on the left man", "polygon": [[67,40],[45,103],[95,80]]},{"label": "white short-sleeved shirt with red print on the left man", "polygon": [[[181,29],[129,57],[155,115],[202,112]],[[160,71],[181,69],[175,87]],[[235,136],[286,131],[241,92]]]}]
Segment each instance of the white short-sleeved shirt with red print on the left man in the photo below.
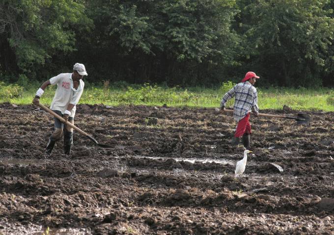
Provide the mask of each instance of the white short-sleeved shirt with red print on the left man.
[{"label": "white short-sleeved shirt with red print on the left man", "polygon": [[57,84],[57,90],[52,100],[50,109],[58,110],[64,114],[69,104],[74,104],[71,110],[70,117],[74,117],[76,111],[76,104],[79,102],[81,95],[83,94],[84,82],[82,79],[79,81],[78,89],[73,88],[72,73],[60,73],[56,77],[50,79],[51,85]]}]

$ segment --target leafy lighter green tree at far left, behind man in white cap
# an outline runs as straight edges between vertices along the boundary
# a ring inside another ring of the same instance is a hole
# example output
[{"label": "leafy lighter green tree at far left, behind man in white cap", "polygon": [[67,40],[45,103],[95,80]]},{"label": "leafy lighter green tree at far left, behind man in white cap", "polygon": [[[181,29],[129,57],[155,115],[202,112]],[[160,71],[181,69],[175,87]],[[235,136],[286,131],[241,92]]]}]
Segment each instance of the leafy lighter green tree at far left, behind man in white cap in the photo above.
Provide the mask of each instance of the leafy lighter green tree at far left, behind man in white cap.
[{"label": "leafy lighter green tree at far left, behind man in white cap", "polygon": [[92,26],[84,10],[82,1],[73,0],[0,1],[0,21],[6,22],[0,70],[34,77],[56,53],[75,50],[74,29]]}]

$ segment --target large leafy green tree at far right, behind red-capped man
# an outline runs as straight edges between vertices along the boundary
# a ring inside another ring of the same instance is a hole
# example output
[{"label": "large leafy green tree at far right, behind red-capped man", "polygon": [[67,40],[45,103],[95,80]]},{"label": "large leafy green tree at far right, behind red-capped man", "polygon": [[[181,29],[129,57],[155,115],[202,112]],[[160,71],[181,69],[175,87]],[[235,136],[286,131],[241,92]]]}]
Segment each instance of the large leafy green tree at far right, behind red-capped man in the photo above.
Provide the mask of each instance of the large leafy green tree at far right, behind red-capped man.
[{"label": "large leafy green tree at far right, behind red-capped man", "polygon": [[280,85],[321,85],[320,74],[334,30],[327,3],[328,0],[257,0],[247,5],[244,10],[250,19],[244,25],[246,55]]}]

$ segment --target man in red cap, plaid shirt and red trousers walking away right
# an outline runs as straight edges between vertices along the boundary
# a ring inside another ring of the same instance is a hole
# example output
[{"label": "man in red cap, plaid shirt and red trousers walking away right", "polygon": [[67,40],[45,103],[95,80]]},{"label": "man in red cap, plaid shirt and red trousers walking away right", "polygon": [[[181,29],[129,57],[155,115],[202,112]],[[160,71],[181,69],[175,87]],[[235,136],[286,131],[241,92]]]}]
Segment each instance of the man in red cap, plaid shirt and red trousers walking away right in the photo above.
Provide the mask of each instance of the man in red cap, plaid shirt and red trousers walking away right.
[{"label": "man in red cap, plaid shirt and red trousers walking away right", "polygon": [[232,145],[238,145],[242,138],[243,144],[247,149],[250,148],[251,141],[250,112],[253,111],[256,117],[259,112],[257,92],[253,86],[257,78],[260,77],[256,76],[254,72],[247,72],[241,83],[235,85],[224,94],[221,101],[221,109],[225,110],[226,102],[235,96],[233,117],[238,122],[238,126],[232,139]]}]

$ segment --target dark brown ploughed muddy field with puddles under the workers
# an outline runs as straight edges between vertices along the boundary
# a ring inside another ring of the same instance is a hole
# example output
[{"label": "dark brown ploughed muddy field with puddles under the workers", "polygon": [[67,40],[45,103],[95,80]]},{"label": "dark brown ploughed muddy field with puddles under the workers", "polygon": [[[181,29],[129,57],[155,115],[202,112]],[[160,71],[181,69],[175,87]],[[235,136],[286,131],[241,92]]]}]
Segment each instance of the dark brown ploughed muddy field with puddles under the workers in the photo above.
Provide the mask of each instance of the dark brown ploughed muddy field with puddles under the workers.
[{"label": "dark brown ploughed muddy field with puddles under the workers", "polygon": [[230,114],[77,109],[75,124],[111,149],[75,132],[71,156],[58,142],[47,157],[53,117],[0,104],[0,234],[334,234],[333,113],[309,112],[306,126],[252,117],[254,155],[236,178]]}]

